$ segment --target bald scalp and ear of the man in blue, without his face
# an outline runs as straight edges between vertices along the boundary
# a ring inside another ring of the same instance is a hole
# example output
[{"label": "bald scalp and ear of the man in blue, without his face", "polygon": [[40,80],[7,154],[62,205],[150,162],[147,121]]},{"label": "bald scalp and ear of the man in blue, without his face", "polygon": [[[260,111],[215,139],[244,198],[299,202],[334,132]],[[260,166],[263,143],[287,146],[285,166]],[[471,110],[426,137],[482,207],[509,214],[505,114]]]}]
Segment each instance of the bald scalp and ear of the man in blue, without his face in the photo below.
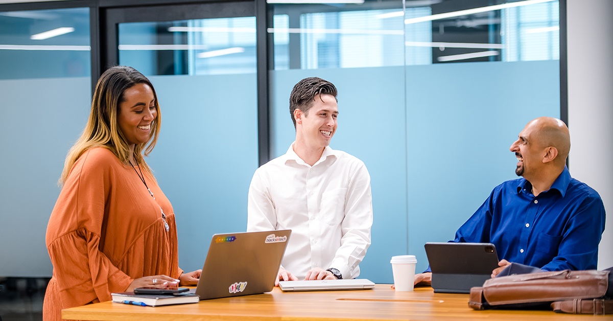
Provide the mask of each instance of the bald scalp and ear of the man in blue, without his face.
[{"label": "bald scalp and ear of the man in blue, without his face", "polygon": [[525,130],[532,133],[533,141],[541,148],[554,147],[558,150],[555,164],[564,166],[571,150],[571,136],[566,124],[557,118],[539,117],[531,120]]}]

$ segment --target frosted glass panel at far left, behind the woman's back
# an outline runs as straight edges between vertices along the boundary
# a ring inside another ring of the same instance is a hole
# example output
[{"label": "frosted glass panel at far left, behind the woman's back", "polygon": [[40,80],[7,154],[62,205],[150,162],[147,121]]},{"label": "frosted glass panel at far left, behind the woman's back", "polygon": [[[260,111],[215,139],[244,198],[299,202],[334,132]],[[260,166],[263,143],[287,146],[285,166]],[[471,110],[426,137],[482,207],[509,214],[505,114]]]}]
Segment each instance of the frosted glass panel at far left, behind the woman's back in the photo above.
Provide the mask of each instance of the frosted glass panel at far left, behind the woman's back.
[{"label": "frosted glass panel at far left, behind the woman's back", "polygon": [[51,277],[47,222],[90,88],[89,77],[0,80],[0,276]]}]

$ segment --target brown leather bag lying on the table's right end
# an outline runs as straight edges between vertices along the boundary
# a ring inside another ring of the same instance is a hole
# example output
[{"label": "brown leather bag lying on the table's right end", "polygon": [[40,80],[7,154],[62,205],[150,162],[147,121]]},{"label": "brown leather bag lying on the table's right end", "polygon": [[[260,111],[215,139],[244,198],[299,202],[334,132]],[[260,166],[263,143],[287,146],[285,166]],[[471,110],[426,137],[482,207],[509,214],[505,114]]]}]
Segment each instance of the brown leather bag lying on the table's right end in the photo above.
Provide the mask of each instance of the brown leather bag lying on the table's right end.
[{"label": "brown leather bag lying on the table's right end", "polygon": [[609,271],[552,271],[501,276],[470,290],[468,306],[475,310],[522,308],[547,304],[555,312],[613,313],[604,300]]}]

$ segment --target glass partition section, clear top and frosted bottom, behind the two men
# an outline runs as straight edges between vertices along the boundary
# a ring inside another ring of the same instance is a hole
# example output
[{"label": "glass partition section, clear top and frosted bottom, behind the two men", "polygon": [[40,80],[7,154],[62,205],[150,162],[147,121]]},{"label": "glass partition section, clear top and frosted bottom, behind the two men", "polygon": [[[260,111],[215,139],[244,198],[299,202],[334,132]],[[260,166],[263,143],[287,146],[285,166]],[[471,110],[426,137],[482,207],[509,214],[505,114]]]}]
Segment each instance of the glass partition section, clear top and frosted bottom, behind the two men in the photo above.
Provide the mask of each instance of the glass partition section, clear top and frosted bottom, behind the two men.
[{"label": "glass partition section, clear top and frosted bottom, behind the two men", "polygon": [[392,282],[392,255],[417,255],[423,271],[425,242],[453,239],[493,187],[516,177],[508,148],[524,125],[560,117],[558,1],[268,2],[273,156],[294,140],[293,85],[334,83],[330,147],[371,175],[360,277]]}]

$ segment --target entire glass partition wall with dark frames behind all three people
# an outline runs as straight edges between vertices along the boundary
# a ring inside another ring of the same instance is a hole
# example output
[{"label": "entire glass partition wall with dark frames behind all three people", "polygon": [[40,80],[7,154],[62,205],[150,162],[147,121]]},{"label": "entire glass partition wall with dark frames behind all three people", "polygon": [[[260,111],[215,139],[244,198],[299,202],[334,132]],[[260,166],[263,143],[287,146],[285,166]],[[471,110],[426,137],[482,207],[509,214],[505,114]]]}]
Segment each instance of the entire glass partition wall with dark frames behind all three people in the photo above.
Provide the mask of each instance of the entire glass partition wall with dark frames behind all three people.
[{"label": "entire glass partition wall with dark frames behind all three people", "polygon": [[128,64],[156,86],[164,125],[148,162],[177,212],[188,270],[202,266],[211,234],[245,230],[258,161],[294,141],[289,93],[300,79],[339,90],[331,147],[370,172],[360,277],[378,283],[392,282],[392,255],[417,255],[425,269],[424,243],[454,238],[516,177],[508,148],[525,123],[560,117],[554,0],[90,2],[0,5],[0,240],[14,244],[0,249],[0,279],[51,276],[45,228],[89,113],[92,67]]}]

